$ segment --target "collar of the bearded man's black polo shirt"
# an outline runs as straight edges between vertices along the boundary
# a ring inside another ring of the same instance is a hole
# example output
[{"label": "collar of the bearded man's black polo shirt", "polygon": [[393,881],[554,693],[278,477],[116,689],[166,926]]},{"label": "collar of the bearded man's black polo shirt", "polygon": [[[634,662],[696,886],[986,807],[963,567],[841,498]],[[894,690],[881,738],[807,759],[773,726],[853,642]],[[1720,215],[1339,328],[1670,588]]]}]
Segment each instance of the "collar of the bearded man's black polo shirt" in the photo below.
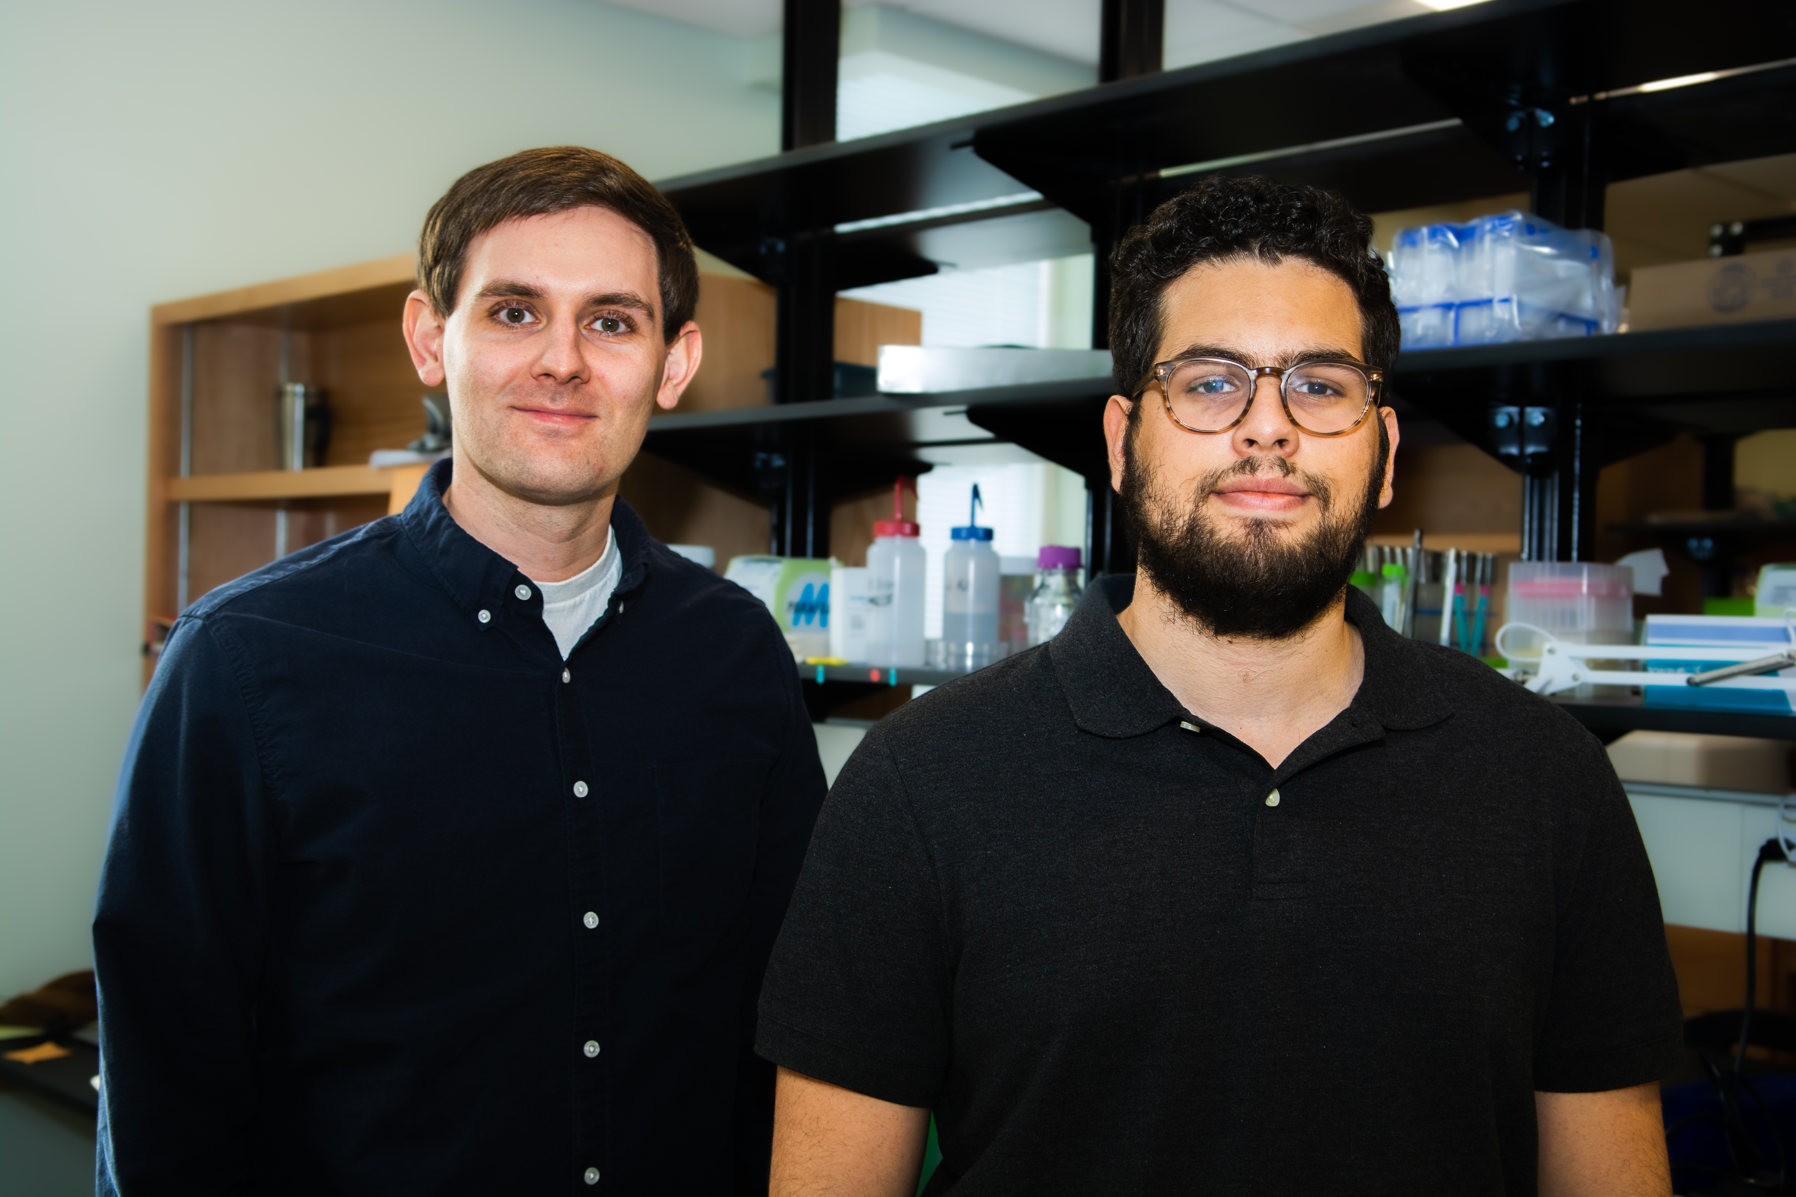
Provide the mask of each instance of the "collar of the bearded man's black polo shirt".
[{"label": "collar of the bearded man's black polo shirt", "polygon": [[[1092,580],[1067,626],[1049,641],[1054,675],[1079,730],[1144,736],[1191,718],[1117,623],[1117,612],[1133,596],[1133,574]],[[1453,714],[1428,668],[1430,650],[1387,628],[1378,607],[1356,587],[1347,587],[1347,621],[1360,628],[1365,644],[1365,677],[1343,712],[1352,727],[1376,736],[1379,729],[1415,730]]]}]

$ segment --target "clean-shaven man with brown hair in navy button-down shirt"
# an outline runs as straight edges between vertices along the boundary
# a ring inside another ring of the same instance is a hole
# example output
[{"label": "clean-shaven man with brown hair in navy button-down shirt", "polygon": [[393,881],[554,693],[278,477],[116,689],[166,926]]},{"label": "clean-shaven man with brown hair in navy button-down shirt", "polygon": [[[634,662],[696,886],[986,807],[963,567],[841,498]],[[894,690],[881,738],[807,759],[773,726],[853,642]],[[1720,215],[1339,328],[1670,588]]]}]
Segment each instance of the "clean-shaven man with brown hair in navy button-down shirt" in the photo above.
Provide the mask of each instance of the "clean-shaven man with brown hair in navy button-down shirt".
[{"label": "clean-shaven man with brown hair in navy button-down shirt", "polygon": [[691,242],[539,149],[449,188],[418,276],[453,458],[194,603],[144,698],[99,1188],[765,1193],[754,1003],[823,770],[767,612],[618,501],[699,368]]}]

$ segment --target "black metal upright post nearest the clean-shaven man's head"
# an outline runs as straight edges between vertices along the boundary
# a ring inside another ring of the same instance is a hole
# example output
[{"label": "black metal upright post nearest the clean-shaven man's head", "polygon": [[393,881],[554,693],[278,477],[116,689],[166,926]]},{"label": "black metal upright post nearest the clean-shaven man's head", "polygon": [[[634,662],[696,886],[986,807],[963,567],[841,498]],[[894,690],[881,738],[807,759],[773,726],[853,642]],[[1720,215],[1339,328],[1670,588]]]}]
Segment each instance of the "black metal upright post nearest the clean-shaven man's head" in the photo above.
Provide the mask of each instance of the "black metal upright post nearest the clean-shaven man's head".
[{"label": "black metal upright post nearest the clean-shaven man's head", "polygon": [[[779,147],[835,140],[841,0],[785,0]],[[781,233],[770,237],[767,280],[779,289],[774,402],[808,404],[835,395],[835,232],[828,197],[803,179],[785,196]],[[779,454],[770,549],[779,556],[830,551],[828,495],[817,488],[817,452],[808,431]]]}]

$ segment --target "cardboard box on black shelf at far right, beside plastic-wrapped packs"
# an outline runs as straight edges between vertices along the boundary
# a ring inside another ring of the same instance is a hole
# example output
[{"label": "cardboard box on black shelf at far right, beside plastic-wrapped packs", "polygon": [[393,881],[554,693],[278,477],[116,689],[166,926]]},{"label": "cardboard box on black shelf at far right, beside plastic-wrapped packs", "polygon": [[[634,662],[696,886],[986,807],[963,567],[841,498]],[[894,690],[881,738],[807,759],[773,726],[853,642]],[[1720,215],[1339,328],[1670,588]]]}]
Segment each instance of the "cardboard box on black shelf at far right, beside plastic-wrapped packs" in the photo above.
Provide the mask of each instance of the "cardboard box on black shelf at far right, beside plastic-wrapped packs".
[{"label": "cardboard box on black shelf at far right, beside plastic-wrapped packs", "polygon": [[1796,318],[1796,249],[1642,266],[1627,287],[1627,330]]}]

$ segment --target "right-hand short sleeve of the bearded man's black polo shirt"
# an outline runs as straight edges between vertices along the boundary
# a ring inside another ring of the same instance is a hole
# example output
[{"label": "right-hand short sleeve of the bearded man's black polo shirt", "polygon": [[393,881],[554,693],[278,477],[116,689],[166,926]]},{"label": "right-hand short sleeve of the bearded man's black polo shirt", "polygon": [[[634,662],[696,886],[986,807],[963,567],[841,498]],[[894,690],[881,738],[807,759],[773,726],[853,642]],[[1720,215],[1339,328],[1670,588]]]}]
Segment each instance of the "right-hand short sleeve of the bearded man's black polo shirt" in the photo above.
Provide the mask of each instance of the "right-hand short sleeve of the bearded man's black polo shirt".
[{"label": "right-hand short sleeve of the bearded man's black polo shirt", "polygon": [[1561,827],[1554,983],[1534,1052],[1534,1088],[1546,1093],[1625,1089],[1683,1064],[1652,865],[1615,770],[1595,745],[1584,750],[1595,761],[1575,770],[1584,818]]}]

